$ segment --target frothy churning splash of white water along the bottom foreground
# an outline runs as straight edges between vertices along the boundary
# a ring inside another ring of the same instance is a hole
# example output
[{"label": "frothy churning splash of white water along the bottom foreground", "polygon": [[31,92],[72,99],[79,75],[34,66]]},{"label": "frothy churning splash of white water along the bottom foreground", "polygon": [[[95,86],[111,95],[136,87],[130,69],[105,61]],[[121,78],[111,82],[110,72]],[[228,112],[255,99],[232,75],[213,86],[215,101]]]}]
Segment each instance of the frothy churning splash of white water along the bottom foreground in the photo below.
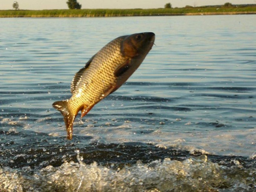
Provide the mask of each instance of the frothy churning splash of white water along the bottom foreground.
[{"label": "frothy churning splash of white water along the bottom foreground", "polygon": [[190,192],[190,191],[253,191],[256,190],[256,168],[220,166],[207,155],[184,161],[165,158],[162,162],[126,165],[114,169],[87,165],[78,154],[78,163],[65,162],[41,170],[0,168],[1,191],[126,191],[126,192]]}]

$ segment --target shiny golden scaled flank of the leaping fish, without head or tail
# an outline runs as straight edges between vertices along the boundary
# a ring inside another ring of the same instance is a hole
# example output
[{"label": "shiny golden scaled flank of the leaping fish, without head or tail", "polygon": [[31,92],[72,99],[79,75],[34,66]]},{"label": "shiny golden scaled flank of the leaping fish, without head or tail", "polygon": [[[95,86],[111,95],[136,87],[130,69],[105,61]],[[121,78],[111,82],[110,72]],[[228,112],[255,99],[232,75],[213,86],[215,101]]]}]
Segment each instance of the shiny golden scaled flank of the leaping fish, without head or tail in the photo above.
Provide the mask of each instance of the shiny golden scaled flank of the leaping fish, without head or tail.
[{"label": "shiny golden scaled flank of the leaping fish, without head or tail", "polygon": [[[71,92],[74,91],[69,104],[73,106],[71,109],[73,113],[81,106],[95,105],[105,97],[105,93],[116,83],[117,77],[114,76],[113,72],[118,65],[127,59],[120,52],[120,41],[122,41],[122,38],[111,41],[107,47],[101,49],[99,54],[93,57],[88,68],[82,70],[76,87],[71,88]],[[82,116],[84,115],[82,114]]]}]

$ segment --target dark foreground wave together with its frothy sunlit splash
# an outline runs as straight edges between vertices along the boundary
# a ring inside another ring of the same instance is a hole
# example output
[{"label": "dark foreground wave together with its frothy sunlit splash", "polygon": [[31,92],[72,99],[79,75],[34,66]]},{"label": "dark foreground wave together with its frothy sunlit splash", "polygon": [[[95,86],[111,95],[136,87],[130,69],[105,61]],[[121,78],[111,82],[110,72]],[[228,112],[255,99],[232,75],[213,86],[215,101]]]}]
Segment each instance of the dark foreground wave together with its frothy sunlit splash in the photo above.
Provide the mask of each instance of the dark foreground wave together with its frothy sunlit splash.
[{"label": "dark foreground wave together with its frothy sunlit splash", "polygon": [[0,131],[0,135],[12,138],[1,140],[1,191],[256,189],[255,157],[206,155],[202,150],[165,149],[139,142],[88,143],[91,137],[81,136],[70,142],[29,131]]}]

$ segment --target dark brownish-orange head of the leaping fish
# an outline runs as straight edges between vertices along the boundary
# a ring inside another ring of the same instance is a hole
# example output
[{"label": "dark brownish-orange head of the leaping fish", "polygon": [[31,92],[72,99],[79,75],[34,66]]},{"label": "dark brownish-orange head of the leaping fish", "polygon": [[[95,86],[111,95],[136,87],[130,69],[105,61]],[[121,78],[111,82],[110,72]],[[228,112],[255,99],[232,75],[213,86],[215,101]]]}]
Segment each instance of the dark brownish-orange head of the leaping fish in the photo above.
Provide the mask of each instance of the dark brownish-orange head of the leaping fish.
[{"label": "dark brownish-orange head of the leaping fish", "polygon": [[123,39],[121,52],[126,58],[147,55],[155,41],[155,34],[144,32],[128,35]]}]

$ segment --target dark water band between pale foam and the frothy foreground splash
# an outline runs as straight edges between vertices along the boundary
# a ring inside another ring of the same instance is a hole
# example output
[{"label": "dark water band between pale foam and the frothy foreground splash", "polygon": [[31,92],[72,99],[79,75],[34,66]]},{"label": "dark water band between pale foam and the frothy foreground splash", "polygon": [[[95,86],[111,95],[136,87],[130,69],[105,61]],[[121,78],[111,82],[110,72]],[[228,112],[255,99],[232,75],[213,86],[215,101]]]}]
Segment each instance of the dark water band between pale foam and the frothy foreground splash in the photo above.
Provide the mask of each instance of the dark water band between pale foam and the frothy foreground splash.
[{"label": "dark water band between pale foam and the frothy foreground splash", "polygon": [[[0,136],[0,165],[10,168],[29,166],[32,169],[41,169],[48,165],[61,166],[65,161],[78,162],[76,150],[79,150],[84,163],[97,162],[111,168],[133,165],[138,160],[142,163],[150,163],[168,157],[171,160],[183,161],[191,156],[202,155],[201,152],[191,154],[189,151],[163,149],[139,142],[106,144],[98,141],[89,144],[88,140],[92,137],[74,136],[72,141],[68,141],[65,137],[51,137],[31,131],[0,130]],[[256,167],[253,158],[220,155],[207,155],[207,157],[212,162],[228,167],[237,165],[235,162],[239,162],[244,168]]]}]

